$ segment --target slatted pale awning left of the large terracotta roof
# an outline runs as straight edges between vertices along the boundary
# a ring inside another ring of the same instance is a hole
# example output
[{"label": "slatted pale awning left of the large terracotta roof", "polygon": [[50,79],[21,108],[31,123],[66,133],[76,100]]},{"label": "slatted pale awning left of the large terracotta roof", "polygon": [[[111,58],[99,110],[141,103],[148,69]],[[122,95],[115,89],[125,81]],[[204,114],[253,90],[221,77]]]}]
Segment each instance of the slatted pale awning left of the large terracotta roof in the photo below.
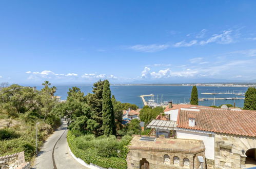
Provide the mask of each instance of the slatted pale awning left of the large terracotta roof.
[{"label": "slatted pale awning left of the large terracotta roof", "polygon": [[147,128],[157,128],[165,130],[176,130],[176,121],[169,120],[158,120],[153,119],[148,125]]}]

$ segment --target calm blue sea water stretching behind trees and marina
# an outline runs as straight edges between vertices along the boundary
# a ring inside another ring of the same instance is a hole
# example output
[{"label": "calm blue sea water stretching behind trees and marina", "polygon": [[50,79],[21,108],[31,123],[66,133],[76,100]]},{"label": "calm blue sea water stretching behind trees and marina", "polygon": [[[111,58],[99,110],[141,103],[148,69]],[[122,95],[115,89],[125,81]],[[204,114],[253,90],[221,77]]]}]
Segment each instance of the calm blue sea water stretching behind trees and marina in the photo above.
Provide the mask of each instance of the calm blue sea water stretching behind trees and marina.
[{"label": "calm blue sea water stretching behind trees and marina", "polygon": [[[71,86],[56,86],[57,91],[56,96],[61,96],[62,100],[67,98],[67,92]],[[80,88],[85,94],[92,93],[92,86],[81,85],[76,86]],[[37,90],[41,90],[43,87],[38,86]],[[214,95],[203,95],[201,93],[213,93],[213,92],[242,92],[245,93],[248,88],[245,87],[197,87],[199,98],[214,98]],[[161,102],[161,97],[163,95],[163,101],[173,101],[173,103],[184,103],[189,102],[191,89],[189,86],[110,86],[112,95],[118,101],[129,102],[138,105],[140,108],[143,107],[143,102],[140,95],[154,94],[154,99],[157,100],[157,94],[159,96],[159,102]],[[237,96],[235,94],[216,94],[215,98],[229,98],[229,97],[244,97]],[[150,99],[151,97],[145,97],[145,99]],[[221,104],[233,104],[233,100],[215,100],[215,105]],[[200,101],[200,105],[213,105],[213,100]],[[235,100],[235,105],[238,107],[243,107],[244,99]]]}]

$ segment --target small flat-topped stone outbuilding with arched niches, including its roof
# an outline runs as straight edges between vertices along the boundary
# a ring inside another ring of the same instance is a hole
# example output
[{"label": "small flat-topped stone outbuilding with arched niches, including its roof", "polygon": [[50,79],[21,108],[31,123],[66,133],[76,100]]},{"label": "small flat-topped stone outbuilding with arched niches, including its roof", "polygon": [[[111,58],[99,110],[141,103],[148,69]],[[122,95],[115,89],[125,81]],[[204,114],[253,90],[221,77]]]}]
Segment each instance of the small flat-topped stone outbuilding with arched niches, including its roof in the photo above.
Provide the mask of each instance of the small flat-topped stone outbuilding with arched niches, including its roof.
[{"label": "small flat-topped stone outbuilding with arched niches, including its roof", "polygon": [[205,158],[201,140],[151,138],[133,135],[128,168],[198,168],[201,163],[197,156]]}]

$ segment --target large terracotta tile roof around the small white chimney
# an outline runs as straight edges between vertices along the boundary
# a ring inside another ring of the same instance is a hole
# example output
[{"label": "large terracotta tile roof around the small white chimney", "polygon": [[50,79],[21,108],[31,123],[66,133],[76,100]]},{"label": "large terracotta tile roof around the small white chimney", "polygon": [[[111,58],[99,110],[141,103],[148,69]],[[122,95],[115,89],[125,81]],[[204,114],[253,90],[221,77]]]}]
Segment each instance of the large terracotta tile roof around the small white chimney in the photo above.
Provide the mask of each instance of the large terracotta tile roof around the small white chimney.
[{"label": "large terracotta tile roof around the small white chimney", "polygon": [[[180,110],[178,128],[203,130],[242,136],[256,136],[256,111],[205,109],[199,112]],[[189,116],[195,117],[195,126],[188,125]]]}]

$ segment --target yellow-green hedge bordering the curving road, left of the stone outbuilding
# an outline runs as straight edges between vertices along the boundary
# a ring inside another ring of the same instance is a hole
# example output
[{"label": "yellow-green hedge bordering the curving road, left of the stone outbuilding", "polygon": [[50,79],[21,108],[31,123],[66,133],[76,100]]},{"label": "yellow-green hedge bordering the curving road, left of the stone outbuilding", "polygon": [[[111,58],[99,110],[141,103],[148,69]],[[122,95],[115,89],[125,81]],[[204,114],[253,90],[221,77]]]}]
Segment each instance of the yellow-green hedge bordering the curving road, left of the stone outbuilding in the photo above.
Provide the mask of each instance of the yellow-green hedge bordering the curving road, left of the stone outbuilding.
[{"label": "yellow-green hedge bordering the curving road, left of the stone outbuilding", "polygon": [[[76,157],[84,160],[84,162],[87,164],[93,163],[104,168],[127,168],[126,156],[129,150],[126,145],[129,144],[131,138],[125,137],[119,142],[119,145],[113,145],[112,149],[114,149],[114,147],[119,147],[119,149],[121,149],[119,157],[101,156],[97,147],[99,147],[99,145],[104,142],[104,140],[111,142],[111,139],[113,139],[113,137],[106,138],[104,136],[95,139],[92,135],[75,137],[75,135],[73,135],[70,131],[67,134],[67,141],[71,152]],[[110,146],[110,144],[107,146]]]}]

